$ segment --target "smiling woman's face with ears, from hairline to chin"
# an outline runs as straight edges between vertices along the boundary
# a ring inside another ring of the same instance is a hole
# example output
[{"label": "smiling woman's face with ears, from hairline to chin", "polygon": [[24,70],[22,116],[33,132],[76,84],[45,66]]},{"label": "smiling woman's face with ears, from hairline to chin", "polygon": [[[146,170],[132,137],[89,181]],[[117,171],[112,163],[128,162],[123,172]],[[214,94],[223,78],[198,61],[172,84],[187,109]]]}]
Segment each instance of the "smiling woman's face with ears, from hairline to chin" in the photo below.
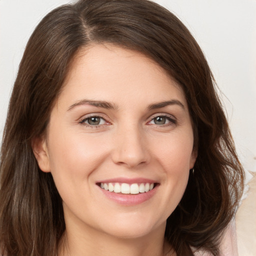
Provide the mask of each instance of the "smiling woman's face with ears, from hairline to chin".
[{"label": "smiling woman's face with ears, from hairline to chin", "polygon": [[34,151],[66,226],[118,237],[164,229],[195,162],[180,87],[152,60],[111,45],[76,56]]}]

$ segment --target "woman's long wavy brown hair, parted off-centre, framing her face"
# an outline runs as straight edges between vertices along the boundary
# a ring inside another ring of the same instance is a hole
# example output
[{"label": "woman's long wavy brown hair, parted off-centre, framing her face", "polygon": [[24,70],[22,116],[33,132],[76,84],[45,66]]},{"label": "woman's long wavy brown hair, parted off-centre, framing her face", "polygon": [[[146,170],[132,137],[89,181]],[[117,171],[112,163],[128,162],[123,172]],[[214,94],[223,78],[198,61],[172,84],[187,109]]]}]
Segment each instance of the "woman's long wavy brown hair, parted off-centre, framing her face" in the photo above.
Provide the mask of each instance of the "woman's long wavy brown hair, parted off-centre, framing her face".
[{"label": "woman's long wavy brown hair, parted off-centre, framing her face", "polygon": [[243,188],[228,123],[205,57],[171,12],[147,0],[79,0],[47,14],[32,33],[12,90],[0,160],[0,248],[10,256],[52,256],[65,230],[61,198],[40,171],[31,139],[41,136],[81,47],[112,43],[153,59],[183,89],[198,156],[186,191],[167,219],[178,256],[190,247],[219,255],[221,233]]}]

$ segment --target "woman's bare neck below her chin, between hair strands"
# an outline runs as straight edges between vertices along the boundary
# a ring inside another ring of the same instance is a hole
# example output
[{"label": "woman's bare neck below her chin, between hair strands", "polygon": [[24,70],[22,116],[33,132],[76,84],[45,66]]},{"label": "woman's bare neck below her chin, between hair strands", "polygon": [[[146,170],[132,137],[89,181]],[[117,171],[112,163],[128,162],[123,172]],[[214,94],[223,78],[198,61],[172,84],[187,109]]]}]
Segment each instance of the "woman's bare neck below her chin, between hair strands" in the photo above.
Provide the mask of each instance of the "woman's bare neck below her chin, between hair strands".
[{"label": "woman's bare neck below her chin, between hair strands", "polygon": [[59,245],[59,256],[172,256],[175,255],[164,241],[165,225],[144,236],[120,238],[86,227],[69,228]]}]

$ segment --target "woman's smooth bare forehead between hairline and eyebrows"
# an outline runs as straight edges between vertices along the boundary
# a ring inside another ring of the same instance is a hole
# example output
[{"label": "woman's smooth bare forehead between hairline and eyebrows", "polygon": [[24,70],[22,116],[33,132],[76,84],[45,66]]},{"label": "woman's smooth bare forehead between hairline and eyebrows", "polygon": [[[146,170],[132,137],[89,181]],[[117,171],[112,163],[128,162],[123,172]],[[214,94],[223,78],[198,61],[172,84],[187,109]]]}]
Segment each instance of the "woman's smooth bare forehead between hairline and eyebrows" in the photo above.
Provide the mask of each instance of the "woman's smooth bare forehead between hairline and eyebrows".
[{"label": "woman's smooth bare forehead between hairline and eyebrows", "polygon": [[77,96],[102,100],[115,93],[126,98],[139,94],[148,101],[169,100],[170,96],[186,101],[181,87],[155,61],[111,44],[90,45],[78,51],[62,93],[71,96],[74,91]]}]

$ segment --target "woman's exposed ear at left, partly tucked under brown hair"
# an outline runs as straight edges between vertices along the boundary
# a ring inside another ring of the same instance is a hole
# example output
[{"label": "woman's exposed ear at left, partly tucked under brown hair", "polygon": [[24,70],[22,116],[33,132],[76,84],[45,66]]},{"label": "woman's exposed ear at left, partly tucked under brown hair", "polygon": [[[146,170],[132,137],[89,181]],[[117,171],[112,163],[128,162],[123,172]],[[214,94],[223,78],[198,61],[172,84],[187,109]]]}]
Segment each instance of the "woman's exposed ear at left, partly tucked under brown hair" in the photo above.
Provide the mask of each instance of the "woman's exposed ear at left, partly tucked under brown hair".
[{"label": "woman's exposed ear at left, partly tucked under brown hair", "polygon": [[33,138],[31,146],[39,168],[44,172],[50,172],[50,161],[45,136]]}]

